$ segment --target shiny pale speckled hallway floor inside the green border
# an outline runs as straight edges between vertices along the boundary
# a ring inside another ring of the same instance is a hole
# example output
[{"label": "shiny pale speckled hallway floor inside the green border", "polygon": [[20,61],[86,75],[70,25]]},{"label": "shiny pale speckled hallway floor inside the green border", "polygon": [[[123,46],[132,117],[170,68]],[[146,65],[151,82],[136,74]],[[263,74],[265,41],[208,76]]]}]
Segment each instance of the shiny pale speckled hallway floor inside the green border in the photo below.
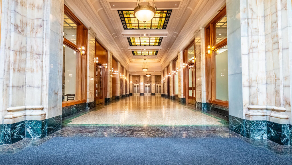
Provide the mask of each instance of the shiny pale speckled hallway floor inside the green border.
[{"label": "shiny pale speckled hallway floor inside the green border", "polygon": [[[194,109],[194,108],[193,108]],[[161,96],[131,96],[70,119],[77,125],[224,125],[226,121],[194,111]]]}]

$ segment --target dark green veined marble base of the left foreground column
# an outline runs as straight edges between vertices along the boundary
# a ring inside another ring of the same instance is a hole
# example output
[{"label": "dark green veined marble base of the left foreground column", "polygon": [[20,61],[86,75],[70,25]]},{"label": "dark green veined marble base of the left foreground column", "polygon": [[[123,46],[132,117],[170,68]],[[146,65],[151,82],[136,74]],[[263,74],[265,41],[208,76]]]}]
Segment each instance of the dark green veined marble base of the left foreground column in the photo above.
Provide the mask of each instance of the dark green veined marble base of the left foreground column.
[{"label": "dark green veined marble base of the left foreground column", "polygon": [[24,138],[39,139],[62,128],[62,115],[45,120],[26,120],[13,124],[2,124],[1,144],[13,144]]}]

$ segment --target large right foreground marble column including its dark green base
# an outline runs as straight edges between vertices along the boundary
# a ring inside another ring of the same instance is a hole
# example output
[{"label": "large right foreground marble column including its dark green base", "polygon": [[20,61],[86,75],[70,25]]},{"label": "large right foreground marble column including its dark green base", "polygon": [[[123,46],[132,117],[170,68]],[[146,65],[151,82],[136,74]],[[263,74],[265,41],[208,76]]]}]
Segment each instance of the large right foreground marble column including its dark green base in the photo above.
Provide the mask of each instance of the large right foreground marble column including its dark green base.
[{"label": "large right foreground marble column including its dark green base", "polygon": [[283,145],[291,145],[288,10],[291,1],[227,0],[230,129]]}]

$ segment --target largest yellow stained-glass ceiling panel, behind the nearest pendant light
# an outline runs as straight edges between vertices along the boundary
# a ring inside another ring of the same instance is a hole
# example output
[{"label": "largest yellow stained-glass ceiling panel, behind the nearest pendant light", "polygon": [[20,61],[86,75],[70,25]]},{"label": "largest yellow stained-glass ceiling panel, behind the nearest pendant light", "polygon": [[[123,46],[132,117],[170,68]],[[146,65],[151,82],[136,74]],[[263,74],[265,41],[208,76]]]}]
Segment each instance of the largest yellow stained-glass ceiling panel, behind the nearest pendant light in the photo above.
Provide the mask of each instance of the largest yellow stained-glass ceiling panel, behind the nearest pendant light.
[{"label": "largest yellow stained-glass ceiling panel, behind the nearest pendant light", "polygon": [[166,29],[172,10],[157,10],[155,16],[148,22],[138,21],[133,10],[118,10],[125,30],[133,29]]}]

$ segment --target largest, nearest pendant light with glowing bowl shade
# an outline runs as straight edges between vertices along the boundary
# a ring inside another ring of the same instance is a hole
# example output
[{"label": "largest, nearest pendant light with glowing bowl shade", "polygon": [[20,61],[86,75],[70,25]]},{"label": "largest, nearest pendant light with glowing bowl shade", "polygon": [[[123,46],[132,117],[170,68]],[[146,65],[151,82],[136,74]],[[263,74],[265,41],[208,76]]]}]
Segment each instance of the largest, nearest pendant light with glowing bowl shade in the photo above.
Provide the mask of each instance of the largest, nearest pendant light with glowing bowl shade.
[{"label": "largest, nearest pendant light with glowing bowl shade", "polygon": [[[139,1],[139,2],[138,2]],[[147,0],[147,5],[140,5],[140,0],[137,0],[136,7],[134,8],[134,16],[141,22],[148,22],[150,21],[154,16],[156,12],[156,5],[154,3],[154,7],[149,5],[149,0]]]}]

